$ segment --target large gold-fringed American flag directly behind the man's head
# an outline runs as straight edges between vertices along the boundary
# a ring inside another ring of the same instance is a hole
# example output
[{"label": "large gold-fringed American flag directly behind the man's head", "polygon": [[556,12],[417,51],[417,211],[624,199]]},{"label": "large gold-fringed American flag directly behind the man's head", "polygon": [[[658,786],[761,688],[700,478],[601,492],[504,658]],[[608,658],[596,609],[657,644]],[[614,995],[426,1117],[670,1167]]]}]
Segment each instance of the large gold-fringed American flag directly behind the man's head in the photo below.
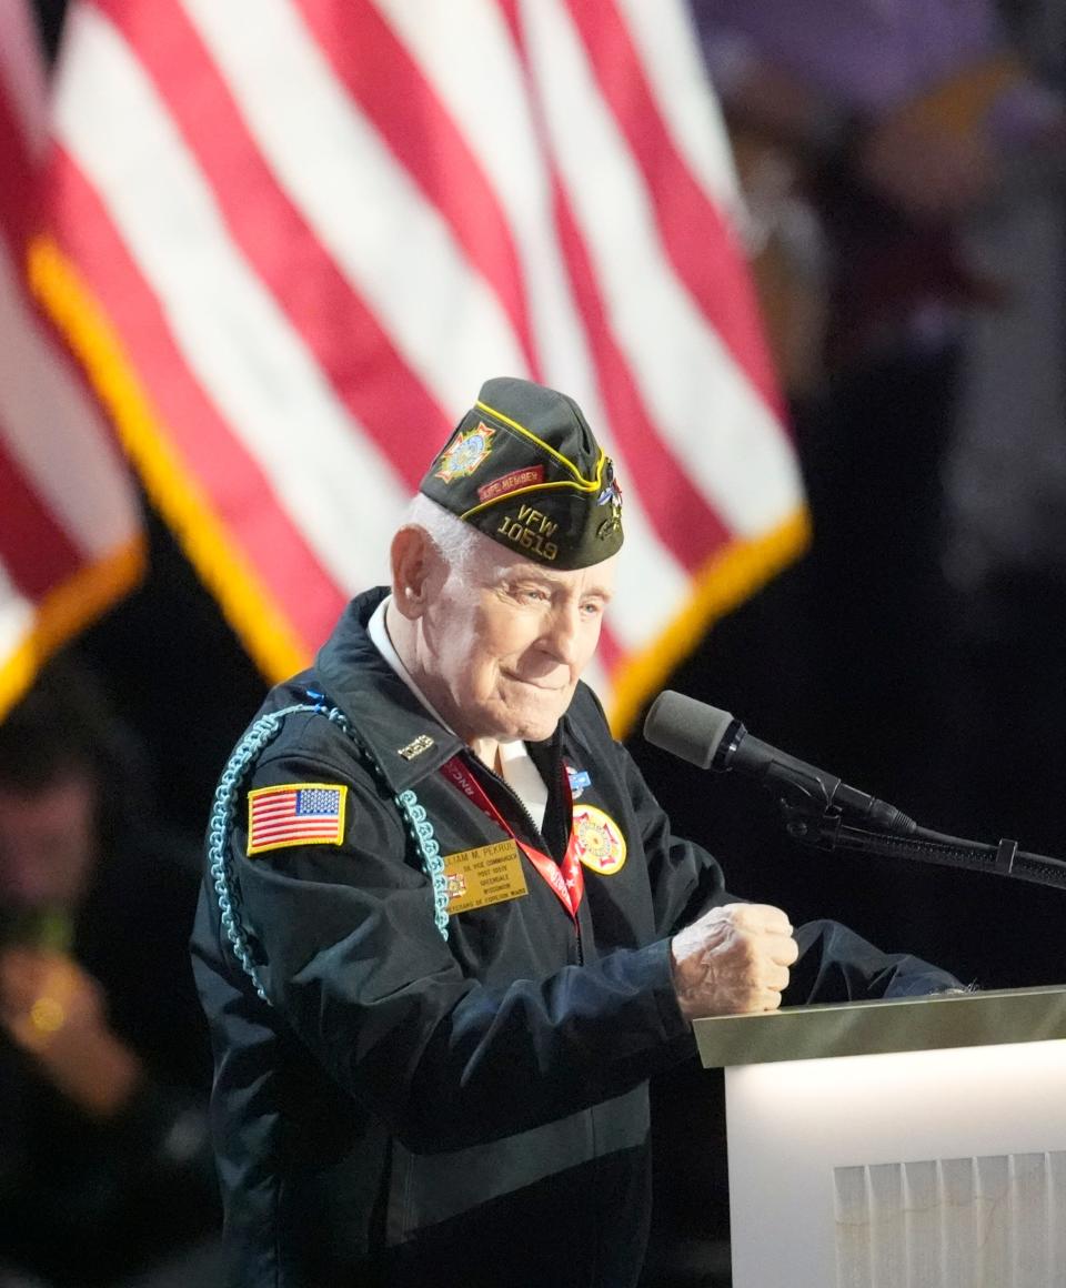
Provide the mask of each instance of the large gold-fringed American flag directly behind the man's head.
[{"label": "large gold-fringed American flag directly behind the man's head", "polygon": [[622,729],[806,536],[682,0],[73,0],[41,298],[268,677],[489,376],[574,397]]}]

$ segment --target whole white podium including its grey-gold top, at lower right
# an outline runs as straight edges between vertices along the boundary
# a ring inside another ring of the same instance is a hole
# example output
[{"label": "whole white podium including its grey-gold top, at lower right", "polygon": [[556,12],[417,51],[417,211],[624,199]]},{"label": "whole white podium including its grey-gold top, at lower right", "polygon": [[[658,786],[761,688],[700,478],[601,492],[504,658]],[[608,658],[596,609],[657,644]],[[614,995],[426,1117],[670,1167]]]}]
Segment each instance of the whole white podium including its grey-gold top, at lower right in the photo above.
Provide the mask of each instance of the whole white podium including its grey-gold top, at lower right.
[{"label": "whole white podium including its grey-gold top, at lower right", "polygon": [[1066,988],[698,1020],[734,1288],[1066,1288]]}]

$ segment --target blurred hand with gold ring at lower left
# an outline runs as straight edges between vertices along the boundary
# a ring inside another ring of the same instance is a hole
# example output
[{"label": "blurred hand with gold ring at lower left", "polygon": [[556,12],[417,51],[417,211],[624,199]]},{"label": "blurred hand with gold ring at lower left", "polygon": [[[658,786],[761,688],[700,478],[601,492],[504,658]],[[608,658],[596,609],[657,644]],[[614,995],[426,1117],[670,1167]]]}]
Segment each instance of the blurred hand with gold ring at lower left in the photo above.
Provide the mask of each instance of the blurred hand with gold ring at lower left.
[{"label": "blurred hand with gold ring at lower left", "polygon": [[0,953],[0,1024],[53,1086],[94,1117],[117,1113],[140,1075],[138,1056],[108,1025],[103,989],[63,953]]}]

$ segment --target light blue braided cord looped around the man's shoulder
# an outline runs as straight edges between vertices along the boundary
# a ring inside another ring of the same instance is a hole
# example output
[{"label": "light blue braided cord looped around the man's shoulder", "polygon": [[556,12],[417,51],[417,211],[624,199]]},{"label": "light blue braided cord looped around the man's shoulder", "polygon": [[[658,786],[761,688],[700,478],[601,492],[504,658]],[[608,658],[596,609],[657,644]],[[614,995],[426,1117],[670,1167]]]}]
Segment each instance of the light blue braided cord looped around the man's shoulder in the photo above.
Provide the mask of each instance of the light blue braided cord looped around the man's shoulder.
[{"label": "light blue braided cord looped around the man's shoulder", "polygon": [[[295,703],[281,711],[269,711],[260,716],[237,743],[233,755],[227,761],[225,769],[215,788],[215,800],[211,806],[211,818],[207,826],[207,858],[209,872],[215,886],[215,895],[219,902],[221,925],[227,939],[233,947],[233,954],[241,963],[241,969],[251,979],[255,990],[264,1002],[269,1001],[263,983],[259,978],[247,935],[241,918],[241,896],[233,881],[233,872],[229,862],[229,836],[233,831],[233,820],[237,814],[237,800],[245,781],[251,775],[256,761],[263,751],[277,738],[282,721],[286,716],[300,711],[312,711],[331,720],[353,743],[360,761],[367,765],[376,777],[380,777],[380,768],[371,753],[359,741],[358,734],[351,728],[348,717],[337,707],[326,707],[322,703],[310,706],[308,703]],[[413,791],[400,792],[394,796],[397,809],[407,823],[418,853],[422,857],[422,869],[433,882],[434,920],[442,938],[448,938],[448,887],[444,880],[444,860],[440,858],[440,845],[429,822],[425,809],[418,804],[418,797]]]}]

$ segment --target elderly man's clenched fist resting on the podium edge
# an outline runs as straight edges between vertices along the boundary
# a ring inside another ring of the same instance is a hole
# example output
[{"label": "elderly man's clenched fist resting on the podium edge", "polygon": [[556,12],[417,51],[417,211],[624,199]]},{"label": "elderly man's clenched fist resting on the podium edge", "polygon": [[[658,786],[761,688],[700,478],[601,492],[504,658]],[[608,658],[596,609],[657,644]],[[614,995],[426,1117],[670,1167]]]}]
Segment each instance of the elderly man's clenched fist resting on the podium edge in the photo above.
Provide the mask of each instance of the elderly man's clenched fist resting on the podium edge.
[{"label": "elderly man's clenched fist resting on the podium edge", "polygon": [[780,908],[729,903],[673,936],[673,988],[687,1020],[775,1011],[800,949]]}]

